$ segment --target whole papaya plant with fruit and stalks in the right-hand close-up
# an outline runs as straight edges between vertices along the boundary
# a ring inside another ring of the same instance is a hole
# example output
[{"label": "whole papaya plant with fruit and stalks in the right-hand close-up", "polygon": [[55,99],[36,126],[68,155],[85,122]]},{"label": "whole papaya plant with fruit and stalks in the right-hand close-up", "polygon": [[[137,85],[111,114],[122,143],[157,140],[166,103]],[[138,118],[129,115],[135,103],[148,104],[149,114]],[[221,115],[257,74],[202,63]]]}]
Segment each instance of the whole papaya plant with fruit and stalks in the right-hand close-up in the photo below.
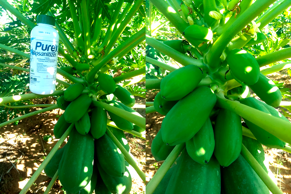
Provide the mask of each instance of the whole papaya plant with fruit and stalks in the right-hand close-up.
[{"label": "whole papaya plant with fruit and stalks in the right-hand close-up", "polygon": [[145,57],[170,72],[146,77],[147,89],[160,90],[154,102],[146,102],[146,113],[166,115],[150,145],[154,158],[164,162],[147,183],[147,194],[282,193],[264,166],[262,145],[291,153],[291,123],[275,109],[290,106],[289,89],[266,75],[290,71],[291,48],[289,39],[268,41],[261,30],[288,12],[291,1],[146,3],[148,25],[157,21],[152,12],[158,10],[175,28],[168,28],[175,40],[166,44],[157,37],[165,28],[151,34],[147,27],[146,44],[182,65]]}]

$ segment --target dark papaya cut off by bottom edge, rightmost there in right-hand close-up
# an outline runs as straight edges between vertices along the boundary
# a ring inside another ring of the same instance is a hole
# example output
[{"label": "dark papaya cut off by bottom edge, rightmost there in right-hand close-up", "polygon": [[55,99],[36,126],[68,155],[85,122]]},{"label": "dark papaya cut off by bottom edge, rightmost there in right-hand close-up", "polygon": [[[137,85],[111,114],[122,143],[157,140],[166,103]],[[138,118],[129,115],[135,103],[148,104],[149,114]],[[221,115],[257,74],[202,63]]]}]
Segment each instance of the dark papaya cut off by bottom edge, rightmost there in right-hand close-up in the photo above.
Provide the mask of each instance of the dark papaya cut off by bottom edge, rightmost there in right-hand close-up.
[{"label": "dark papaya cut off by bottom edge, rightmost there in right-hand close-up", "polygon": [[269,194],[269,189],[257,173],[239,154],[228,167],[221,167],[221,185],[225,194]]}]

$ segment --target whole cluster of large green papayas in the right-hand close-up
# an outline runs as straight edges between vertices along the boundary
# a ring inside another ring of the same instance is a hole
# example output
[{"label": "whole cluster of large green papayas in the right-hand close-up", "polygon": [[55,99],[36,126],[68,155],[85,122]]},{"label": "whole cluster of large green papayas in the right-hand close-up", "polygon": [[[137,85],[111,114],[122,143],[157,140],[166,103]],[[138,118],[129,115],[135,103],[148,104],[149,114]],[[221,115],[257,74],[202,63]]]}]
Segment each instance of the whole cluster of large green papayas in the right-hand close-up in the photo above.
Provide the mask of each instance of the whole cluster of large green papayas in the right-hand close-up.
[{"label": "whole cluster of large green papayas in the right-hand close-up", "polygon": [[[226,99],[288,121],[274,108],[282,99],[279,88],[260,73],[259,64],[251,54],[233,49],[226,62],[230,74],[242,85],[225,92]],[[198,85],[204,74],[198,66],[187,65],[172,71],[160,83],[154,108],[166,116],[152,141],[151,152],[157,161],[162,161],[175,145],[185,143],[186,147],[177,165],[170,168],[154,194],[206,191],[230,194],[241,193],[242,189],[246,193],[269,193],[240,154],[242,143],[266,172],[262,144],[280,149],[286,143],[245,118],[245,126],[256,140],[243,137],[241,116],[216,106],[218,87],[213,91],[212,87]],[[251,97],[248,87],[264,102]]]}]

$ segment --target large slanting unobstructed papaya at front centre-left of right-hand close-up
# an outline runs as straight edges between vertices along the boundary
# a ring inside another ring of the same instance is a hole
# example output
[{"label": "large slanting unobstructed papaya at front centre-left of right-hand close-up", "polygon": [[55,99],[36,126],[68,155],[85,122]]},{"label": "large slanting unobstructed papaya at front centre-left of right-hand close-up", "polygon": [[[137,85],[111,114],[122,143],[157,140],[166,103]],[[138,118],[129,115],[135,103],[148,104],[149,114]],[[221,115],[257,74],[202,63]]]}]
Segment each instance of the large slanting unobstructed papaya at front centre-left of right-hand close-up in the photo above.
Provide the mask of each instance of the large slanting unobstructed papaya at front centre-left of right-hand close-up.
[{"label": "large slanting unobstructed papaya at front centre-left of right-hand close-up", "polygon": [[162,122],[163,141],[178,145],[191,139],[209,117],[215,103],[216,95],[206,86],[196,88],[179,100]]}]

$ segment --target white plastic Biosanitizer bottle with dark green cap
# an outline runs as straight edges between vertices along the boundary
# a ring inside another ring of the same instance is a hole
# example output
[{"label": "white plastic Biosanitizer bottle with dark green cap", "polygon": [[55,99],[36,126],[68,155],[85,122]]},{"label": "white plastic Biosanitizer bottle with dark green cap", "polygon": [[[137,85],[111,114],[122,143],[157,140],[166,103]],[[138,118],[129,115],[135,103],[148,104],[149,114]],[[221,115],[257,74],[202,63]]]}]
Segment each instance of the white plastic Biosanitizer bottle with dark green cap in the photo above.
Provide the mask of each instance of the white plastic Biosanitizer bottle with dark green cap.
[{"label": "white plastic Biosanitizer bottle with dark green cap", "polygon": [[52,94],[56,89],[59,35],[53,27],[55,19],[38,15],[38,26],[30,34],[30,84],[35,94]]}]

